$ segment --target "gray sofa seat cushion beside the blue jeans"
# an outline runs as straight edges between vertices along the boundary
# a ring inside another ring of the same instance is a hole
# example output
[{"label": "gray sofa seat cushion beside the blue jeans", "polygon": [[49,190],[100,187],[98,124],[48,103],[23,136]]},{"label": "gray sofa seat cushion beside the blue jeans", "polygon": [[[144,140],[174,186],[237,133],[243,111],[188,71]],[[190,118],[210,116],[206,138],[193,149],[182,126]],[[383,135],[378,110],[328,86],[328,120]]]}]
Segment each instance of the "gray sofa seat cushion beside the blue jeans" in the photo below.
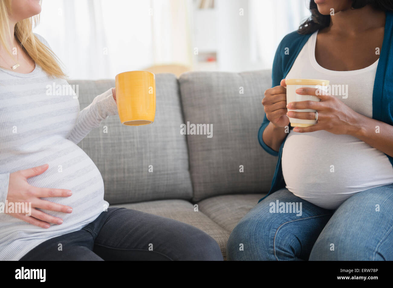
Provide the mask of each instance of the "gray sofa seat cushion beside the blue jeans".
[{"label": "gray sofa seat cushion beside the blue jeans", "polygon": [[200,212],[231,233],[244,215],[265,195],[222,195],[204,199],[197,204]]}]

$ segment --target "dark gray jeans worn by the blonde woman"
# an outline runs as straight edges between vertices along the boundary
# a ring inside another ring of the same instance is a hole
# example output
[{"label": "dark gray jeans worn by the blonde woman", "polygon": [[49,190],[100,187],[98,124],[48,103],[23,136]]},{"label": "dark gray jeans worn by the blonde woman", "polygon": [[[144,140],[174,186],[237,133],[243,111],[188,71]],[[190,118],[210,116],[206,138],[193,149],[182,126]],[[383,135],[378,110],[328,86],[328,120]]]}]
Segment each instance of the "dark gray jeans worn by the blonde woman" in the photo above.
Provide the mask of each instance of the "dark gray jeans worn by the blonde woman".
[{"label": "dark gray jeans worn by the blonde woman", "polygon": [[20,260],[223,259],[217,242],[194,226],[137,210],[112,207],[81,230],[51,238]]}]

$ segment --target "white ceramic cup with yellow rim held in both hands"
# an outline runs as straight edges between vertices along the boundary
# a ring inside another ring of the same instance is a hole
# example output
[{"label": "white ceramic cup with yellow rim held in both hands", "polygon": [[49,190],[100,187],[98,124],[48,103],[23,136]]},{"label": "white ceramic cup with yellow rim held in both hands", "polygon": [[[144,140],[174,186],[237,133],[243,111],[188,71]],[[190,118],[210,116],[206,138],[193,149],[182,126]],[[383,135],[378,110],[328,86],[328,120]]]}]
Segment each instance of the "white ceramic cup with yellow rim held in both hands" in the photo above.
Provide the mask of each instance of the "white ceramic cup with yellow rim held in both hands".
[{"label": "white ceramic cup with yellow rim held in both hands", "polygon": [[[286,84],[286,103],[290,102],[299,102],[299,101],[321,101],[315,95],[299,95],[296,94],[296,89],[310,87],[310,88],[319,88],[326,91],[325,86],[329,85],[328,80],[316,80],[316,79],[285,79]],[[289,111],[295,112],[316,112],[314,109],[287,109]],[[297,118],[289,118],[289,122],[292,127],[309,127],[317,123],[316,120],[306,120],[306,119],[297,119]]]}]

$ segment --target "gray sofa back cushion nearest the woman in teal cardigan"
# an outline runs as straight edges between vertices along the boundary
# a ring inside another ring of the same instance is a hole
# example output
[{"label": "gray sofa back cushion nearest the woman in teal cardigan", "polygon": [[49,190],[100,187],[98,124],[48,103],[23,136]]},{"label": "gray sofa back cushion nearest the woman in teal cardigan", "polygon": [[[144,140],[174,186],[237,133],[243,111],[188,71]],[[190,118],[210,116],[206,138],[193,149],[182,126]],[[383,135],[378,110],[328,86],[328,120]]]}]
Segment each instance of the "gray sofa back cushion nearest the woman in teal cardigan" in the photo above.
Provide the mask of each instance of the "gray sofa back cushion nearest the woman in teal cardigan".
[{"label": "gray sofa back cushion nearest the woman in teal cardigan", "polygon": [[184,123],[213,124],[212,138],[187,135],[193,200],[268,192],[277,158],[262,149],[257,133],[271,72],[186,72],[179,83]]}]

